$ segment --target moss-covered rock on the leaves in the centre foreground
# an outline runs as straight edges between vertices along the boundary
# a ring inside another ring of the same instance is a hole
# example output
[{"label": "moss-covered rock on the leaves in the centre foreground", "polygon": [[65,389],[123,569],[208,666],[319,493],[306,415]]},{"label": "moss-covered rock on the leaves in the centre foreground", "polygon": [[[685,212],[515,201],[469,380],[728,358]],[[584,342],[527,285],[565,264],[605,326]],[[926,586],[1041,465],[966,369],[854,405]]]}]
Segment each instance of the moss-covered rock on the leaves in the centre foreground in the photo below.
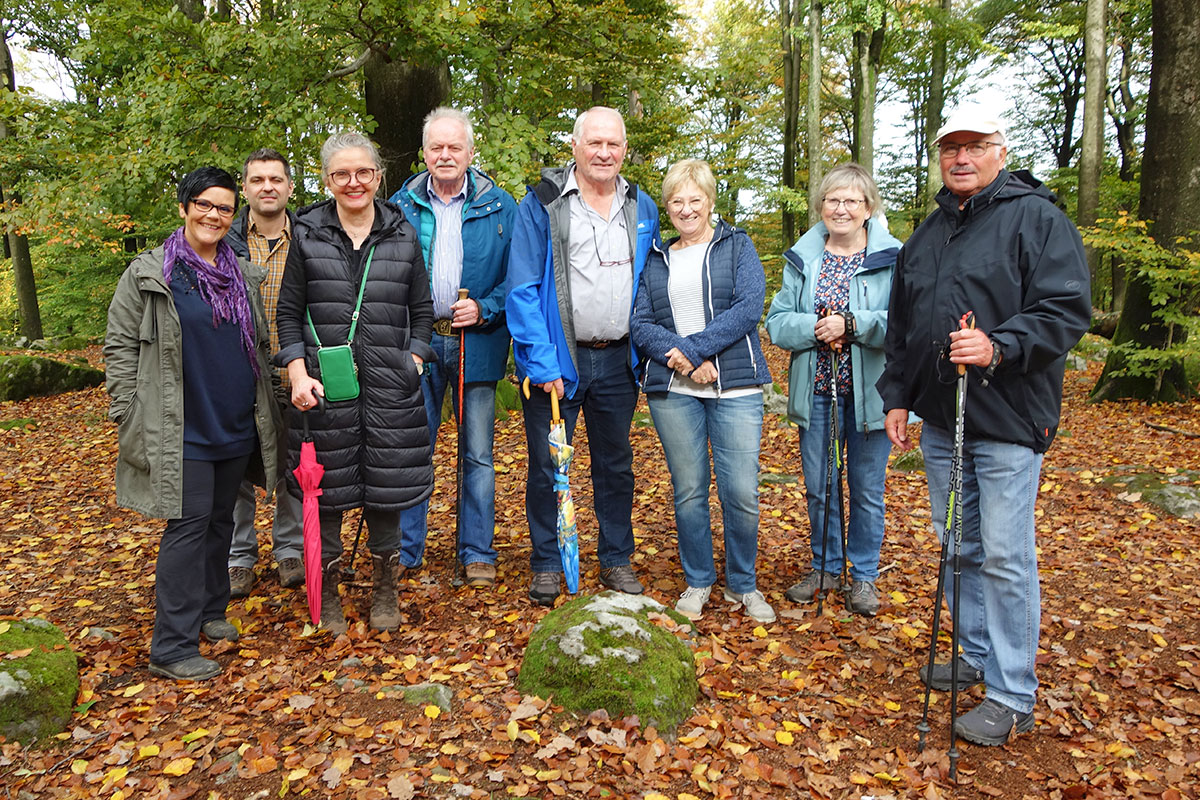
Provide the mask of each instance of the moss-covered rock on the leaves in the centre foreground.
[{"label": "moss-covered rock on the leaves in the centre foreground", "polygon": [[674,729],[688,718],[700,685],[691,648],[649,618],[690,622],[658,601],[605,591],[548,613],[529,636],[517,688],[554,698],[568,711],[636,714],[642,724]]}]

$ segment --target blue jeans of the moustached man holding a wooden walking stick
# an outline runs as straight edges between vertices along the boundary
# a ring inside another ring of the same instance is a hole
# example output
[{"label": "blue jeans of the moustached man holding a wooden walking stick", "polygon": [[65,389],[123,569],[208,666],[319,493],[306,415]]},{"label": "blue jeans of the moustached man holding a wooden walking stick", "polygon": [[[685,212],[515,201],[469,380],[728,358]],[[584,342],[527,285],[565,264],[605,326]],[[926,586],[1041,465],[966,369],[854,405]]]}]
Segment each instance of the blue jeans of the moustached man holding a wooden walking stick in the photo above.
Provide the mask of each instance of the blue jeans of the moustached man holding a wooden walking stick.
[{"label": "blue jeans of the moustached man holding a wooden walking stick", "polygon": [[[456,500],[462,504],[462,528],[458,531],[457,555],[463,564],[476,561],[496,564],[496,549],[492,548],[492,534],[496,530],[496,469],[492,467],[496,384],[486,381],[464,384],[463,398],[460,401],[458,337],[434,333],[430,345],[437,353],[438,360],[425,365],[421,393],[425,396],[425,414],[430,421],[431,453],[438,444],[442,401],[446,389],[450,389],[456,414],[458,403],[463,403],[463,497]],[[425,558],[428,512],[427,499],[400,512],[400,561],[404,566],[420,566],[421,559]]]}]

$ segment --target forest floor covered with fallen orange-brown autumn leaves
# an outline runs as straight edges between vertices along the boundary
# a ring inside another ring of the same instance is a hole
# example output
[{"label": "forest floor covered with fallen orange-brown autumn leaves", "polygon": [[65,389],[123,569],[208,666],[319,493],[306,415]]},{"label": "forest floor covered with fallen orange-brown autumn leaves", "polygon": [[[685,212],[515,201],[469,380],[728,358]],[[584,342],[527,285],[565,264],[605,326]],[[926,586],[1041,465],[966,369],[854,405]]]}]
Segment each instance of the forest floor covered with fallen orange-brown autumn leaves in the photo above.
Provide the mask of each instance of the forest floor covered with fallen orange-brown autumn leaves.
[{"label": "forest floor covered with fallen orange-brown autumn leaves", "polygon": [[[767,350],[786,383],[784,354]],[[98,362],[96,348],[85,355]],[[1200,521],[1156,511],[1120,479],[1200,470],[1200,444],[1177,433],[1200,432],[1200,404],[1087,404],[1098,371],[1067,373],[1061,433],[1043,468],[1037,726],[1003,747],[960,744],[958,786],[948,780],[948,697],[935,693],[929,746],[917,752],[917,667],[937,560],[919,473],[888,473],[884,604],[874,619],[844,613],[838,597],[822,616],[784,597],[809,559],[803,480],[763,485],[758,585],[779,621],[760,626],[714,600],[697,622],[700,702],[668,734],[564,715],[515,688],[529,632],[547,613],[526,595],[518,413],[497,422],[494,589],[450,585],[446,426],[426,565],[403,584],[408,625],[390,634],[352,626],[337,640],[306,634],[304,590],[280,589],[264,547],[254,594],[228,610],[241,640],[202,644],[223,675],[176,684],[146,670],[162,523],[114,504],[103,390],[0,404],[0,421],[26,420],[0,432],[0,620],[44,616],[62,627],[82,678],[67,733],[36,747],[0,745],[0,796],[1198,798]],[[671,485],[643,411],[632,431],[635,567],[648,594],[672,604],[684,584]],[[581,591],[594,593],[583,426],[580,434]],[[797,431],[778,416],[763,427],[762,467],[800,473]],[[1114,476],[1116,486],[1102,483]],[[715,493],[713,506],[719,521]],[[264,545],[268,528],[260,507]],[[362,622],[367,561],[360,553],[359,581],[346,590],[348,614]],[[380,692],[422,681],[454,691],[449,714]]]}]

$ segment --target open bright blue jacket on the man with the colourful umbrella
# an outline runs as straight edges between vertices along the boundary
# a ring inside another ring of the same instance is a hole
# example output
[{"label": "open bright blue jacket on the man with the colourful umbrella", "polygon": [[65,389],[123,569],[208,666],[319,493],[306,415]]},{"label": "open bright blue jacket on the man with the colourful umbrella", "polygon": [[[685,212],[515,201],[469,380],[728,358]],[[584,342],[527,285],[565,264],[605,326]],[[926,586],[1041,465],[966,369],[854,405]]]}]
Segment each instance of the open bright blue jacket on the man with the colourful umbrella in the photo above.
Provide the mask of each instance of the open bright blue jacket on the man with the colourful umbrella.
[{"label": "open bright blue jacket on the man with the colourful umbrella", "polygon": [[[541,181],[517,206],[505,302],[517,379],[546,384],[562,378],[568,397],[575,396],[580,379],[568,259],[571,210],[563,197],[571,167],[541,170]],[[629,184],[623,213],[634,253],[636,303],[646,257],[659,241],[659,209],[646,192]],[[629,311],[632,314],[634,309]],[[637,363],[632,344],[629,356],[632,368]]]}]

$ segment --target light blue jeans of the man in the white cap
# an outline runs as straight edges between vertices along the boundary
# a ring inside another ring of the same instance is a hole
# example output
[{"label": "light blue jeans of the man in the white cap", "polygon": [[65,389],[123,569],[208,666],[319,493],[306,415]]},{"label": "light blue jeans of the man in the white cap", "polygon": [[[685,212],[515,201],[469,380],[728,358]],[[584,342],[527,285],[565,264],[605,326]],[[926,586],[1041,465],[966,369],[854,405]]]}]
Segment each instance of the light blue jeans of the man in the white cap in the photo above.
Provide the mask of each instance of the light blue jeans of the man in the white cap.
[{"label": "light blue jeans of the man in the white cap", "polygon": [[[946,535],[954,435],[925,422],[920,433],[934,529]],[[1022,445],[967,437],[962,446],[962,587],[959,644],[982,669],[988,697],[1021,712],[1038,688],[1042,594],[1033,505],[1042,453]],[[953,535],[953,531],[952,531]],[[953,608],[953,543],[947,551],[947,604]]]}]

